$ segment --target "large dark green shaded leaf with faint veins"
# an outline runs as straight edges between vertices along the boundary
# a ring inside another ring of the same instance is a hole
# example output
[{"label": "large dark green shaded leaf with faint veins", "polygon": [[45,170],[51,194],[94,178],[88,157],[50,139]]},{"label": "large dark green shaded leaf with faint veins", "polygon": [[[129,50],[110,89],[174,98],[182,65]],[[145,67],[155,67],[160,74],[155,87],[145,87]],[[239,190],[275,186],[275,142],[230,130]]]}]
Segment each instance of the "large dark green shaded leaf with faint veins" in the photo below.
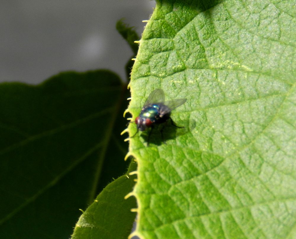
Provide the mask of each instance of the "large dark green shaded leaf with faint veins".
[{"label": "large dark green shaded leaf with faint veins", "polygon": [[0,85],[0,238],[70,237],[78,209],[126,172],[126,93],[106,70]]}]

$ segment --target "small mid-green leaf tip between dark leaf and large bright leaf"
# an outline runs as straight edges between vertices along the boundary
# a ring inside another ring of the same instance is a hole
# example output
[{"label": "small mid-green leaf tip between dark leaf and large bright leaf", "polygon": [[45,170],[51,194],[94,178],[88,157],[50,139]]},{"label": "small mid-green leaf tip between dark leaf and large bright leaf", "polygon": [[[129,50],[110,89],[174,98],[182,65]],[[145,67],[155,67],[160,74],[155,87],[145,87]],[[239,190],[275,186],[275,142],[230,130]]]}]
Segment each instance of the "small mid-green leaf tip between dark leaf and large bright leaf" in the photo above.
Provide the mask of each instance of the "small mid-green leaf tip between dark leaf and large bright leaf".
[{"label": "small mid-green leaf tip between dark leaf and large bright leaf", "polygon": [[[132,162],[128,172],[136,170],[136,167]],[[136,217],[136,213],[131,212],[131,208],[136,207],[136,199],[124,197],[133,189],[135,178],[135,175],[126,174],[105,187],[81,215],[72,239],[127,238]]]}]

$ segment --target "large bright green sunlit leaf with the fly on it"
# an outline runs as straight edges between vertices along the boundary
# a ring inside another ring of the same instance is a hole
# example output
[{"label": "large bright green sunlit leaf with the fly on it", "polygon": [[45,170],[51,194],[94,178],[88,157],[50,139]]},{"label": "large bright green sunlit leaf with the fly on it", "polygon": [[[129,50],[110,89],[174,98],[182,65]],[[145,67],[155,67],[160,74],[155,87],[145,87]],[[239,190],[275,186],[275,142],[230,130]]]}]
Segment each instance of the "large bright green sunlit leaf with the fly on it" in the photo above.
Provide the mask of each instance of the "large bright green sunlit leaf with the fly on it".
[{"label": "large bright green sunlit leaf with the fly on it", "polygon": [[[296,1],[157,1],[131,76],[185,129],[130,140],[141,238],[296,238]],[[130,135],[136,132],[129,126]]]}]

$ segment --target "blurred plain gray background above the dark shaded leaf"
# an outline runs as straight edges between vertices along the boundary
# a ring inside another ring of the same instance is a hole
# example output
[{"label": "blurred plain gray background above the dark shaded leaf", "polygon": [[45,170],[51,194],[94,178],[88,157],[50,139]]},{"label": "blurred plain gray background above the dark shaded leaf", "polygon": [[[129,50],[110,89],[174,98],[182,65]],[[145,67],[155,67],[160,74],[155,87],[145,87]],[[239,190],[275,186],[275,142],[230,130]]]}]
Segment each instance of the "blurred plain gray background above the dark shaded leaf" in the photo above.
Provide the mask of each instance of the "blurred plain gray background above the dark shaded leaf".
[{"label": "blurred plain gray background above the dark shaded leaf", "polygon": [[132,56],[116,22],[141,36],[155,1],[10,0],[0,4],[0,82],[38,84],[61,71],[110,69]]}]

